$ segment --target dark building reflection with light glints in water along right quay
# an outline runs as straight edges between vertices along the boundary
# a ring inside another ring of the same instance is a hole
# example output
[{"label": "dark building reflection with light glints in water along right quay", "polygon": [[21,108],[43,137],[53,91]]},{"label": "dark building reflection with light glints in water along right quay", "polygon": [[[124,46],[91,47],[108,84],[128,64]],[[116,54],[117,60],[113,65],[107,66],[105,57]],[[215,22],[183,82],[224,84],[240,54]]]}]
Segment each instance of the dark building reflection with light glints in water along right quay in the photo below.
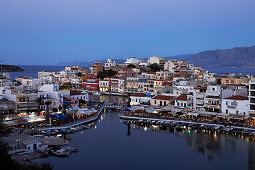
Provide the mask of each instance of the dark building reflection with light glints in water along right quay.
[{"label": "dark building reflection with light glints in water along right quay", "polygon": [[218,156],[226,153],[240,154],[247,153],[247,169],[255,170],[255,146],[243,138],[227,134],[218,134],[210,132],[198,132],[195,130],[177,130],[176,128],[162,128],[156,125],[139,126],[136,124],[127,124],[128,132],[130,127],[147,132],[170,133],[178,138],[186,140],[186,145],[195,152],[199,152],[207,157],[208,160],[214,160]]}]

